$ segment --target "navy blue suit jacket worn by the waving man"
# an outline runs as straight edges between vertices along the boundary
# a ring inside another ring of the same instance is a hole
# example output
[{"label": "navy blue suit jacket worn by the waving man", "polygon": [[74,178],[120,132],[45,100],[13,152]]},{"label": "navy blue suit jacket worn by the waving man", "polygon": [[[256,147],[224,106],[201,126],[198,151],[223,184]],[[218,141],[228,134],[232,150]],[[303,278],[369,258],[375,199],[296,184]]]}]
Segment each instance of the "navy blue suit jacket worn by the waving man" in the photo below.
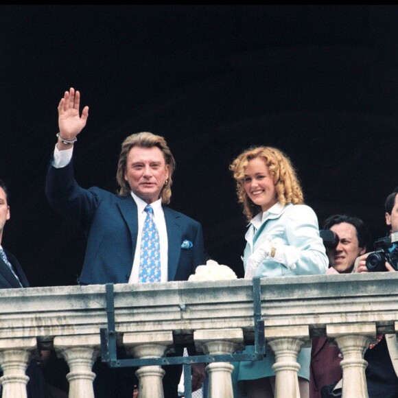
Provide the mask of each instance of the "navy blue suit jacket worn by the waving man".
[{"label": "navy blue suit jacket worn by the waving man", "polygon": [[[53,209],[87,237],[80,283],[126,283],[130,278],[137,245],[137,204],[129,194],[118,196],[98,187],[83,189],[75,181],[73,162],[61,168],[49,166],[45,192]],[[163,205],[168,239],[168,281],[186,281],[196,267],[205,264],[202,226]],[[184,240],[192,248],[181,248]]]}]

